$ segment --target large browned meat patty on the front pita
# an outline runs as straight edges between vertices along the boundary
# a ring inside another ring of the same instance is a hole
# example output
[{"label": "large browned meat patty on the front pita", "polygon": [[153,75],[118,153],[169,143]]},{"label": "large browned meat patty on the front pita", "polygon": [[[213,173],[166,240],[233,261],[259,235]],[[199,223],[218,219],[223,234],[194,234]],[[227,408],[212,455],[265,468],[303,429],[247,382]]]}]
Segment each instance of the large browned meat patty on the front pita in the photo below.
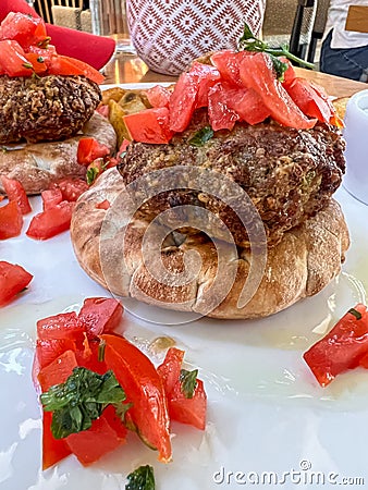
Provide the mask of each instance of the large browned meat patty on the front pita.
[{"label": "large browned meat patty on the front pita", "polygon": [[[250,220],[245,230],[234,211],[242,204],[236,203],[237,199],[244,204],[244,196],[238,197],[236,192],[229,195],[226,180],[217,188],[218,196],[224,196],[224,200],[206,193],[209,177],[206,172],[203,191],[191,187],[191,169],[208,169],[226,176],[247,193],[262,219],[267,242],[271,246],[280,242],[284,232],[321,210],[341,184],[345,170],[344,140],[334,126],[317,124],[312,130],[302,131],[272,121],[257,125],[236,123],[233,131],[216,132],[203,146],[192,146],[188,139],[208,124],[206,118],[205,111],[197,111],[188,130],[168,145],[133,143],[128,146],[119,166],[125,185],[145,176],[147,191],[160,179],[160,175],[152,175],[150,181],[149,172],[174,166],[187,168],[187,173],[181,174],[177,182],[173,169],[169,181],[175,183],[175,188],[146,201],[137,213],[139,218],[151,220],[164,210],[192,205],[183,208],[183,212],[172,212],[172,218],[170,212],[164,216],[167,224],[176,228],[181,221],[182,230],[188,233],[196,231],[191,229],[193,220],[195,229],[200,229],[196,209],[206,208],[212,215],[203,222],[203,230],[207,233],[208,229],[212,230],[208,234],[228,240],[228,226],[236,245],[249,246],[246,230],[259,226],[259,223]],[[145,189],[140,183],[135,194],[138,200],[144,200]],[[219,219],[223,223],[221,226]]]}]

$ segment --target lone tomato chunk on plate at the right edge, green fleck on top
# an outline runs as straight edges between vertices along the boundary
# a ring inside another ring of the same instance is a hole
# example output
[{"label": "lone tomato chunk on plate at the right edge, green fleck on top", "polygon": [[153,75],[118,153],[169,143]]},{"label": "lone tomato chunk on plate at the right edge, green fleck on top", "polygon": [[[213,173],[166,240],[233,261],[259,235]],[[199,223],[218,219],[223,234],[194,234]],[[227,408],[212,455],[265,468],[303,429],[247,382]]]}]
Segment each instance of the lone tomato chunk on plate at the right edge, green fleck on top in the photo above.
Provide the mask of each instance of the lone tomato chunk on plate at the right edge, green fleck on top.
[{"label": "lone tomato chunk on plate at the right edge, green fleck on top", "polygon": [[354,369],[368,353],[368,311],[363,304],[347,311],[333,329],[304,355],[321,387]]}]

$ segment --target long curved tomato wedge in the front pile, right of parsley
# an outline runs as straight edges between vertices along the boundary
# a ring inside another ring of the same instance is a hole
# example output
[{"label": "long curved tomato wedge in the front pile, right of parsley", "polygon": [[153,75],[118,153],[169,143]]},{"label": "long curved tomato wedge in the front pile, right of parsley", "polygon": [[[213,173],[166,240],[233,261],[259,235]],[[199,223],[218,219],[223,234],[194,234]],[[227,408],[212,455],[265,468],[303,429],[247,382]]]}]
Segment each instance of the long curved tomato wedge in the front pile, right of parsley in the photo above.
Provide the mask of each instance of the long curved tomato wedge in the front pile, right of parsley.
[{"label": "long curved tomato wedge in the front pile, right of parsley", "polygon": [[149,358],[118,335],[103,334],[105,362],[126,393],[127,411],[140,438],[159,452],[159,461],[171,460],[169,414],[161,378]]}]

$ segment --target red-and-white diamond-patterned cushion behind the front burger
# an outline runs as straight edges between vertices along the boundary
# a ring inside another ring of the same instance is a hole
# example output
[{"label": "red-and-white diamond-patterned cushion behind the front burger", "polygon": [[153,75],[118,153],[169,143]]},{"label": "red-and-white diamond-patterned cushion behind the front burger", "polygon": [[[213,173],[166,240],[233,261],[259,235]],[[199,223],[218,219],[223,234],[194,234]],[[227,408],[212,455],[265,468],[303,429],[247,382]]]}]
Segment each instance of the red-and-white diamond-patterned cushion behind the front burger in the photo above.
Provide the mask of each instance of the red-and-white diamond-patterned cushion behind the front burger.
[{"label": "red-and-white diamond-patterned cushion behind the front burger", "polygon": [[133,46],[148,66],[177,75],[208,51],[235,48],[246,22],[259,35],[266,0],[126,0]]}]

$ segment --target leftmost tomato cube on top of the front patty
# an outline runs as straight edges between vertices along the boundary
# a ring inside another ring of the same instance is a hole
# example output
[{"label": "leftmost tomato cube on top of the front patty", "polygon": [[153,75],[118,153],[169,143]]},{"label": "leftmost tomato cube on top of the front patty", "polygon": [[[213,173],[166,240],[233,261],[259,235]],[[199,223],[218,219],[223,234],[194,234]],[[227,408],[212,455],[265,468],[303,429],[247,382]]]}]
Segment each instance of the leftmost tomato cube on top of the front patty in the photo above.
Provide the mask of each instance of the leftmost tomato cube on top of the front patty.
[{"label": "leftmost tomato cube on top of the front patty", "polygon": [[[171,118],[171,115],[170,115]],[[124,115],[124,122],[132,139],[140,143],[169,143],[173,132],[169,127],[169,109],[145,109]]]}]

